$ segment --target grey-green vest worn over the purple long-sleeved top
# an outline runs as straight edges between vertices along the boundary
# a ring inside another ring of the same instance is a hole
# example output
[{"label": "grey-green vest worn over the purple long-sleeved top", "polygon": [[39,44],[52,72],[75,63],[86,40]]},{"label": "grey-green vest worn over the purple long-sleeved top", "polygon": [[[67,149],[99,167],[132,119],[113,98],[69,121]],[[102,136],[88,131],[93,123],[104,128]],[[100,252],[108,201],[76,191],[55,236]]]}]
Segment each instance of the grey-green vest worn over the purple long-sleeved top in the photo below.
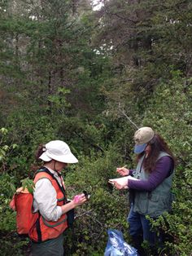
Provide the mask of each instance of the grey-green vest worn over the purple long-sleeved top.
[{"label": "grey-green vest worn over the purple long-sleeved top", "polygon": [[[166,152],[160,152],[157,161],[161,157],[168,156]],[[148,179],[149,174],[144,170],[142,166],[142,161],[144,160],[143,156],[137,164],[134,177],[137,179]],[[162,183],[159,184],[152,192],[139,191],[135,190],[134,193],[134,205],[133,211],[143,215],[149,215],[153,218],[158,217],[163,214],[164,211],[171,210],[172,206],[172,177],[173,173],[164,179]]]}]

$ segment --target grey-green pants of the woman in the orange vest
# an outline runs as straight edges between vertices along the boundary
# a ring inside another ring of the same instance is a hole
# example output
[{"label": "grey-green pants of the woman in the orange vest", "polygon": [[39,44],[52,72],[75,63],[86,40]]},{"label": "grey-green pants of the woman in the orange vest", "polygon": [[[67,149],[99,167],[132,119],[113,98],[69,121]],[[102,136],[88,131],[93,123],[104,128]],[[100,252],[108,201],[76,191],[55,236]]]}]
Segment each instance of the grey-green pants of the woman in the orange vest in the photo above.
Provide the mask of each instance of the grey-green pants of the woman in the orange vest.
[{"label": "grey-green pants of the woman in the orange vest", "polygon": [[32,242],[32,256],[63,256],[63,234],[41,243]]}]

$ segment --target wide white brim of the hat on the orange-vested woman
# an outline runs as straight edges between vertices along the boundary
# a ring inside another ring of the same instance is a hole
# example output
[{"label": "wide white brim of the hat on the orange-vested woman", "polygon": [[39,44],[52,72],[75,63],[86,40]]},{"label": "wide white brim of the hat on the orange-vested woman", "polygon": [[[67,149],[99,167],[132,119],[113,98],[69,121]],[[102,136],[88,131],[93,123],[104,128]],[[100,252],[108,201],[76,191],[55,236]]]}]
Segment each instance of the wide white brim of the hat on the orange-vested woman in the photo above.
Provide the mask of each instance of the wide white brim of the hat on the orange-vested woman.
[{"label": "wide white brim of the hat on the orange-vested woman", "polygon": [[63,157],[61,157],[61,156],[53,156],[53,155],[51,155],[51,157],[50,157],[48,152],[43,152],[39,158],[42,161],[51,161],[52,159],[54,159],[56,161],[60,161],[62,163],[66,163],[66,164],[76,164],[78,162],[78,160],[72,154],[72,152],[69,153],[66,156],[63,156]]}]

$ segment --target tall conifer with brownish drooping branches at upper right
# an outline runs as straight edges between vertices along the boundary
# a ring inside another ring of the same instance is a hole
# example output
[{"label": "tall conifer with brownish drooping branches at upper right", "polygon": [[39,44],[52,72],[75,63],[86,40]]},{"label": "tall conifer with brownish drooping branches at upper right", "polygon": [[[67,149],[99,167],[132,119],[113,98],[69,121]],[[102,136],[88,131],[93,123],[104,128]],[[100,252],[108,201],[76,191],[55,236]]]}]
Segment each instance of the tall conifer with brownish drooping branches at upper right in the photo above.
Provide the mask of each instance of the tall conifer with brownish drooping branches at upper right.
[{"label": "tall conifer with brownish drooping branches at upper right", "polygon": [[116,95],[125,94],[124,104],[130,95],[142,111],[144,99],[159,79],[171,78],[177,69],[190,77],[191,2],[111,0],[103,4],[97,13],[95,42],[112,56],[113,73],[118,77],[113,82],[119,91]]}]

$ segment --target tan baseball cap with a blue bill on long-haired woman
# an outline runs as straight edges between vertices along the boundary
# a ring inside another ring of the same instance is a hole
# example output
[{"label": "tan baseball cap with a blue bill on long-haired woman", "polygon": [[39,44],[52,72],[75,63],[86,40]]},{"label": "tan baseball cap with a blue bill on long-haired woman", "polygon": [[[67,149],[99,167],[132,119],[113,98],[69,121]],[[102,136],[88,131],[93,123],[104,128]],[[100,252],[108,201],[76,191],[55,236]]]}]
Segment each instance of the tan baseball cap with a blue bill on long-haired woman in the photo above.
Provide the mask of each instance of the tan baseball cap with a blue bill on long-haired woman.
[{"label": "tan baseball cap with a blue bill on long-haired woman", "polygon": [[138,129],[134,134],[134,152],[136,154],[140,154],[146,149],[147,143],[153,139],[155,135],[154,130],[151,127],[142,127]]}]

